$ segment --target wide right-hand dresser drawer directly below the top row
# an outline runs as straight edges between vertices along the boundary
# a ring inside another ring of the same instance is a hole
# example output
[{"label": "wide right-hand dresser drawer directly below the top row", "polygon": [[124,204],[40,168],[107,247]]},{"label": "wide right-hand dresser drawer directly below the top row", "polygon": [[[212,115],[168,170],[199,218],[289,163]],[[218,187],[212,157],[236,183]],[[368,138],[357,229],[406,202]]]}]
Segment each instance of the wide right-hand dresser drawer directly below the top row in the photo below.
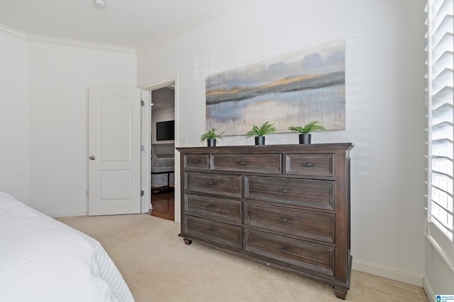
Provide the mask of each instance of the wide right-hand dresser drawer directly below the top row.
[{"label": "wide right-hand dresser drawer directly below the top row", "polygon": [[245,198],[334,210],[334,182],[245,175]]}]

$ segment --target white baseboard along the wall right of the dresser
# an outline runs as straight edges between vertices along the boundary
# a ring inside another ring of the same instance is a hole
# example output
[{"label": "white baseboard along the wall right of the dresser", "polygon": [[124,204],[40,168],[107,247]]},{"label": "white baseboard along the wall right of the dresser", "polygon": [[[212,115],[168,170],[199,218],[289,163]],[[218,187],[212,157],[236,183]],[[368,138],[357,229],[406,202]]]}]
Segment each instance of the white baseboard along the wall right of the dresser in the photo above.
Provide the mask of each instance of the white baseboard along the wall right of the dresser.
[{"label": "white baseboard along the wall right of the dresser", "polygon": [[409,272],[402,272],[398,269],[392,269],[390,267],[382,267],[380,265],[374,265],[369,262],[363,262],[360,260],[353,260],[352,269],[367,274],[375,274],[375,276],[391,279],[394,281],[411,284],[414,286],[423,287],[423,276],[419,274],[411,274]]}]

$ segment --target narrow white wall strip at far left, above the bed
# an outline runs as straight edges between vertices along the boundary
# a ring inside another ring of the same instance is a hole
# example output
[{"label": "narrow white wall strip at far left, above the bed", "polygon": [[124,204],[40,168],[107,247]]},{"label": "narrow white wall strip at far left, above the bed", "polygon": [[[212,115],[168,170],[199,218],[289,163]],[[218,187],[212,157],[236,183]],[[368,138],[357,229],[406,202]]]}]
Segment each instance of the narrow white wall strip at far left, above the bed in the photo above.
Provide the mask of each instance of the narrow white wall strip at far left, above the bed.
[{"label": "narrow white wall strip at far left, above the bed", "polygon": [[0,28],[0,190],[28,203],[28,43]]}]

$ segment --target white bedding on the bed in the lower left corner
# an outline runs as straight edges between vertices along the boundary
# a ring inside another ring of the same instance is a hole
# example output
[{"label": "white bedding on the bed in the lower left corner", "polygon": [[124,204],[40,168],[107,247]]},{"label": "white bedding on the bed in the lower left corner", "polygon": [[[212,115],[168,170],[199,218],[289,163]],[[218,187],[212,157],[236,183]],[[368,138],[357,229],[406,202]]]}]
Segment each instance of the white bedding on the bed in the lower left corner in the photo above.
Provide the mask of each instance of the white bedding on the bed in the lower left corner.
[{"label": "white bedding on the bed in the lower left corner", "polygon": [[101,244],[0,192],[0,301],[134,301]]}]

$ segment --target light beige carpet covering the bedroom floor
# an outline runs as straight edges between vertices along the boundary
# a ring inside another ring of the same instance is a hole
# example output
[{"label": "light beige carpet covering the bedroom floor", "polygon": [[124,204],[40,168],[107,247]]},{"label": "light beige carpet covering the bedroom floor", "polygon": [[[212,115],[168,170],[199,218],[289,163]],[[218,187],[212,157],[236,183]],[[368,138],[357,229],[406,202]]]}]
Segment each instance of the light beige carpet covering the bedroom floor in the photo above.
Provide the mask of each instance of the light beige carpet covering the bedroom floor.
[{"label": "light beige carpet covering the bedroom floor", "polygon": [[[57,219],[101,242],[135,301],[341,301],[332,286],[178,237],[148,214]],[[354,257],[355,255],[353,255]],[[345,301],[428,301],[423,289],[358,271]]]}]

